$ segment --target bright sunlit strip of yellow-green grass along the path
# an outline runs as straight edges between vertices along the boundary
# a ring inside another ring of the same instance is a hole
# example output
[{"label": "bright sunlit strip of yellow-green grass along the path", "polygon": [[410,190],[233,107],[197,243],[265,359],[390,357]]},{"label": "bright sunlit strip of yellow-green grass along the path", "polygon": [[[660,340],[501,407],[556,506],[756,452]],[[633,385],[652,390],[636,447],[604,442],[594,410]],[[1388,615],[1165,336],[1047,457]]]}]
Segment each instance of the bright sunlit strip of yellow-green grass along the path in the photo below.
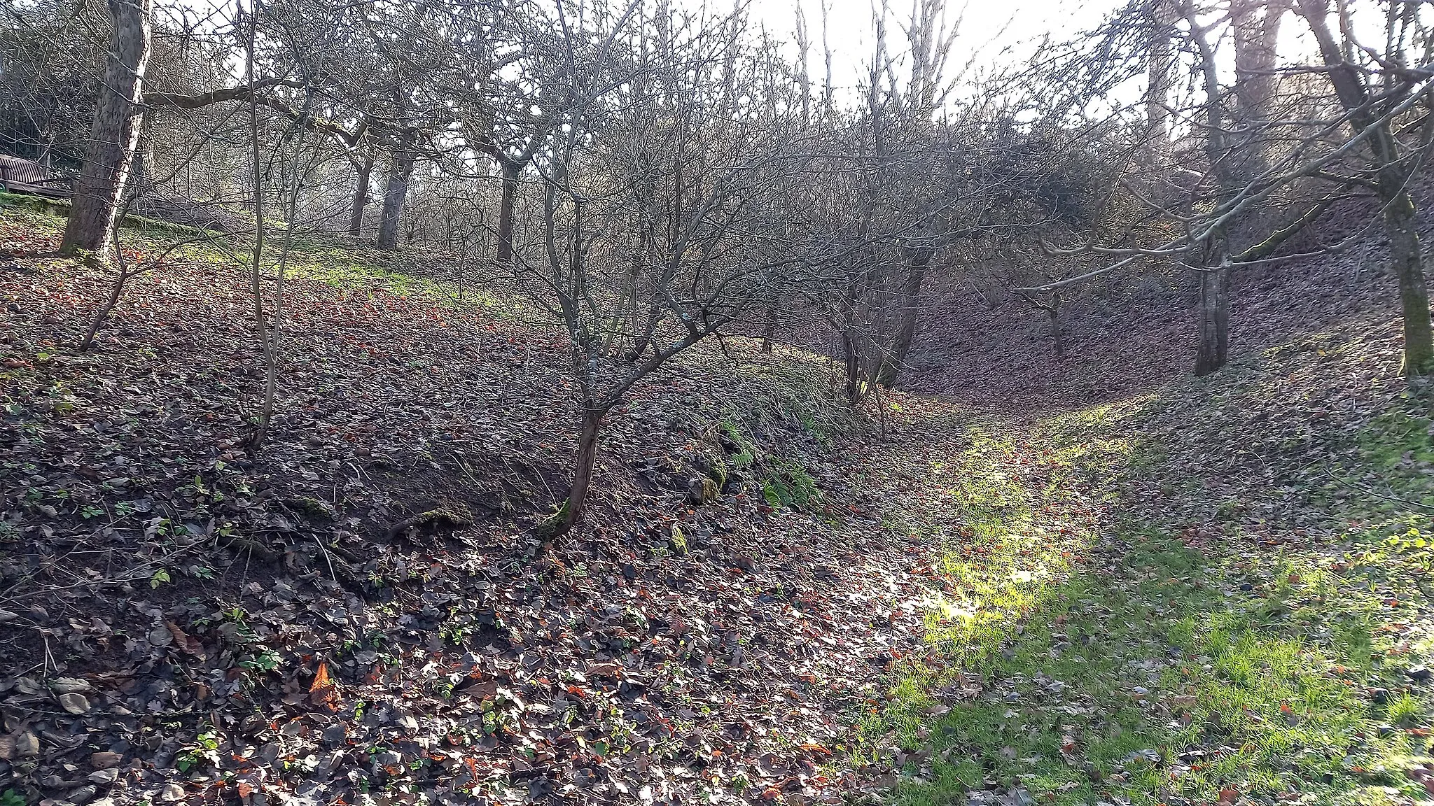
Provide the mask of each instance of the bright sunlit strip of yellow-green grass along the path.
[{"label": "bright sunlit strip of yellow-green grass along the path", "polygon": [[[942,488],[962,528],[942,535],[931,523],[903,526],[941,545],[934,569],[945,585],[934,591],[925,620],[926,643],[939,660],[899,665],[885,708],[859,724],[858,763],[870,763],[888,744],[919,749],[941,711],[931,693],[989,663],[1024,630],[1030,614],[1051,605],[1098,523],[1100,511],[1080,482],[1098,475],[1098,468],[1129,460],[1131,447],[1124,440],[1081,442],[1116,413],[1116,407],[1101,407],[1041,423],[1038,432],[1050,449],[1035,462],[1028,446],[1010,435],[975,427],[965,452],[932,468],[931,480]],[[969,784],[967,779],[955,777]]]}]

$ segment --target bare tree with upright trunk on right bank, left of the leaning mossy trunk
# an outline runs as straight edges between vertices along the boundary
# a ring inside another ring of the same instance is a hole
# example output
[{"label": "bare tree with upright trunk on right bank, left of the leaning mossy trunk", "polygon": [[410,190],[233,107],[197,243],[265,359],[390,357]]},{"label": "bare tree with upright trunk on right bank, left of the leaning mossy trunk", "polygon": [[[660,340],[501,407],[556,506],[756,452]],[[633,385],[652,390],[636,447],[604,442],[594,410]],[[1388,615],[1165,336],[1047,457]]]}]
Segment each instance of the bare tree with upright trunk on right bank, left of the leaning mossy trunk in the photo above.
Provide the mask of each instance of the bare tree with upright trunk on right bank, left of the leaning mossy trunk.
[{"label": "bare tree with upright trunk on right bank, left of the leaning mossy trunk", "polygon": [[[1348,115],[1319,120],[1305,115],[1314,109],[1309,103],[1282,115],[1279,80],[1301,72],[1279,67],[1275,57],[1281,19],[1289,9],[1286,0],[1238,0],[1215,7],[1182,1],[1176,9],[1195,86],[1189,102],[1170,105],[1172,118],[1187,132],[1184,143],[1177,146],[1183,148],[1186,162],[1169,174],[1160,165],[1154,165],[1154,171],[1137,165],[1137,172],[1144,171],[1144,175],[1120,182],[1123,192],[1146,209],[1137,218],[1154,219],[1159,225],[1146,227],[1146,238],[1133,237],[1136,228],[1131,228],[1121,238],[1124,244],[1097,244],[1087,237],[1084,245],[1074,248],[1047,245],[1050,257],[1120,260],[1020,291],[1047,294],[1152,260],[1177,261],[1199,284],[1195,373],[1203,376],[1223,367],[1229,357],[1233,272],[1246,265],[1299,257],[1282,252],[1282,247],[1351,186],[1348,178],[1334,175],[1329,168],[1347,159],[1352,149],[1362,148],[1368,136],[1357,131],[1351,139],[1341,139]],[[1159,53],[1163,47],[1159,37],[1157,53],[1150,56],[1149,36],[1126,36],[1139,26],[1149,26],[1150,20],[1147,10],[1139,17],[1130,14],[1130,9],[1117,14],[1088,39],[1097,43],[1094,54],[1081,53],[1073,59],[1080,65],[1077,72],[1086,70],[1087,77],[1068,83],[1084,87],[1077,89],[1077,95],[1088,93],[1076,98],[1073,109],[1096,98],[1108,99],[1108,76],[1126,75],[1120,67],[1123,62],[1149,65],[1152,59],[1164,59]],[[1233,86],[1222,80],[1219,43],[1226,32],[1235,43]],[[1150,95],[1160,93],[1152,90]],[[1150,138],[1163,148],[1164,135],[1153,131],[1149,106],[1143,118],[1134,148],[1149,152]],[[1306,198],[1311,185],[1299,185],[1296,191],[1299,182],[1315,182],[1315,186],[1324,182],[1328,192],[1322,198]],[[1074,235],[1074,240],[1081,237]]]}]

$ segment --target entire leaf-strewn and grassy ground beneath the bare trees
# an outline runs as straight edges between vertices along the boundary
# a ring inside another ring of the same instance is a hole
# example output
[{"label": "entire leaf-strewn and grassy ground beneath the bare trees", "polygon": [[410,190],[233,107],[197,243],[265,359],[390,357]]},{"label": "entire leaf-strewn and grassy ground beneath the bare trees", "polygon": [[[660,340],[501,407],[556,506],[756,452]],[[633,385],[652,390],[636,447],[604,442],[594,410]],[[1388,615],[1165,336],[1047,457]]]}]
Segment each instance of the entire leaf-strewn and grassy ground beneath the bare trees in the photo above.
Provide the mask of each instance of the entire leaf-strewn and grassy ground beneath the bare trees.
[{"label": "entire leaf-strewn and grassy ground beneath the bare trees", "polygon": [[1434,792],[1434,422],[1378,307],[1058,402],[997,344],[879,417],[728,340],[533,559],[575,433],[522,307],[301,244],[250,459],[242,272],[179,250],[76,353],[59,224],[0,207],[3,806]]}]

